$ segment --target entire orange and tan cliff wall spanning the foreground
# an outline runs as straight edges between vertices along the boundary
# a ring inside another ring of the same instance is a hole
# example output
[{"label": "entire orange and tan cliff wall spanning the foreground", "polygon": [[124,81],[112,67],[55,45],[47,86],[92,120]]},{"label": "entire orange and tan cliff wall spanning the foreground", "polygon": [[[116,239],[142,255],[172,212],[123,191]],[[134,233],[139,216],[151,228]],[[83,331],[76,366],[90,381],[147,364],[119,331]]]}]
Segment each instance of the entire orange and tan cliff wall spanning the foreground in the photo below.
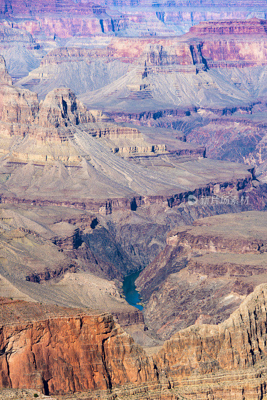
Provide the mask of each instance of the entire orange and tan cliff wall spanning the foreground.
[{"label": "entire orange and tan cliff wall spanning the foreground", "polygon": [[[192,325],[173,335],[158,353],[147,356],[110,315],[59,308],[47,311],[41,305],[33,310],[30,303],[2,298],[6,324],[1,328],[1,384],[30,385],[45,394],[101,389],[87,392],[90,399],[99,395],[160,400],[194,395],[201,399],[207,393],[214,398],[230,393],[263,397],[265,299],[266,285],[261,284],[224,322]],[[28,321],[33,314],[35,320]],[[16,351],[21,345],[22,352]],[[79,398],[78,393],[75,396]]]}]

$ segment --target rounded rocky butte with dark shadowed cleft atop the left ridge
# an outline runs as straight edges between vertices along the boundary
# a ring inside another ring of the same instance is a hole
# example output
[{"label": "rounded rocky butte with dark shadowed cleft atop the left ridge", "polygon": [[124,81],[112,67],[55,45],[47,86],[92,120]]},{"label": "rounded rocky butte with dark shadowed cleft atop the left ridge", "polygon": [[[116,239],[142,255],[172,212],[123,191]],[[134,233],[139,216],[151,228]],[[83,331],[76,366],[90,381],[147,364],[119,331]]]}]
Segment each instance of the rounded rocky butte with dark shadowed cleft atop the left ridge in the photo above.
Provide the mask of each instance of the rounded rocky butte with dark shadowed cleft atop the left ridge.
[{"label": "rounded rocky butte with dark shadowed cleft atop the left ridge", "polygon": [[43,127],[69,126],[92,122],[94,117],[66,87],[51,90],[40,105],[35,123]]}]

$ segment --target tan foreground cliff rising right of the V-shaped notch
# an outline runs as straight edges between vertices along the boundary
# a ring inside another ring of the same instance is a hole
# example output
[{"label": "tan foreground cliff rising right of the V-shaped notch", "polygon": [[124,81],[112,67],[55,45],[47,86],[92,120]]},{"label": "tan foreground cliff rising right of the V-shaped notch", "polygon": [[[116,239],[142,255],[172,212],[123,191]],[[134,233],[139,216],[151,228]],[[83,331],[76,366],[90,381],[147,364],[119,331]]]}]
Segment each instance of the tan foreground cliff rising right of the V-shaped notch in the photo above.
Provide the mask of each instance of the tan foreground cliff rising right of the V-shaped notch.
[{"label": "tan foreground cliff rising right of the V-shaped notch", "polygon": [[[193,325],[177,332],[165,342],[157,355],[157,363],[171,377],[170,381],[173,379],[175,386],[177,385],[181,391],[185,388],[185,392],[189,392],[190,389],[194,392],[194,385],[203,384],[206,378],[209,380],[210,394],[216,398],[223,393],[224,388],[223,384],[220,389],[216,384],[215,389],[212,388],[216,378],[212,380],[209,375],[211,371],[214,374],[216,371],[230,370],[234,377],[235,371],[241,374],[246,368],[247,370],[249,367],[257,368],[257,361],[266,356],[265,287],[265,285],[258,286],[223,323]],[[193,372],[196,379],[192,376]],[[191,381],[187,378],[189,376],[192,377]],[[222,380],[224,379],[230,379],[230,375],[226,374]],[[243,396],[250,398],[245,384],[244,381]],[[264,378],[262,394],[265,392],[263,387],[265,387]],[[225,392],[227,396],[227,387]],[[203,392],[198,393],[198,398],[202,398],[203,394]]]}]

